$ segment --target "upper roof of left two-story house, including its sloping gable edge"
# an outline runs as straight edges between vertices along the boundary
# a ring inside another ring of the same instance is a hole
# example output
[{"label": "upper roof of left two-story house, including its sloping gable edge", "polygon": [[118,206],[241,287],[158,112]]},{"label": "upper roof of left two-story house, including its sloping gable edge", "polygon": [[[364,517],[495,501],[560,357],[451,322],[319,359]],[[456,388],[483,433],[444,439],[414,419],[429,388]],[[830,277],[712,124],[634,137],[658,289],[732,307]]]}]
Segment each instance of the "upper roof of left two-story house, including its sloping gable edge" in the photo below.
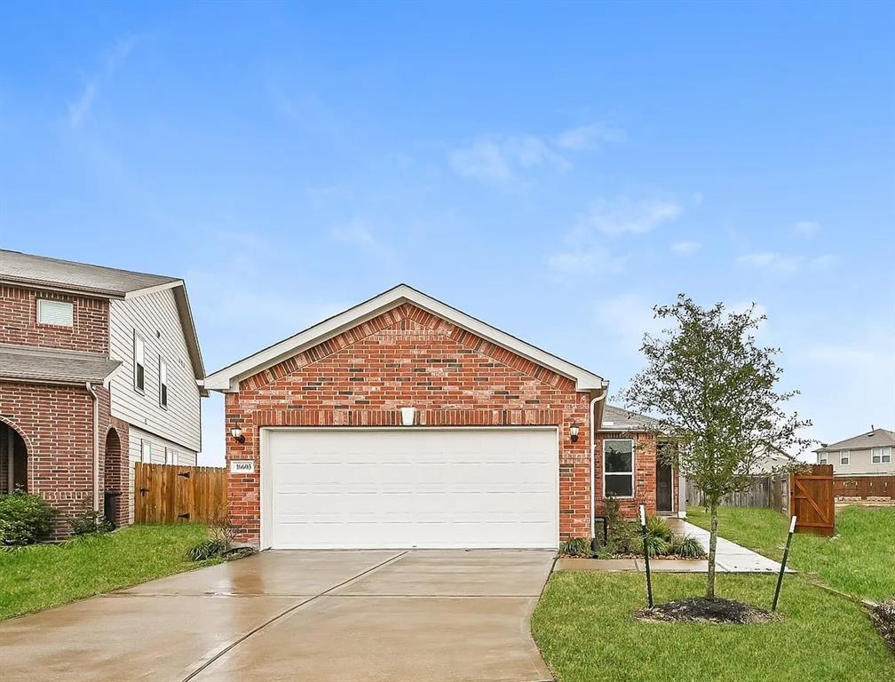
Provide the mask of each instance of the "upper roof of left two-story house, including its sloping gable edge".
[{"label": "upper roof of left two-story house, including its sloping gable edge", "polygon": [[83,294],[96,298],[128,300],[136,296],[171,289],[177,303],[177,316],[190,353],[196,379],[205,376],[205,364],[192,319],[186,285],[179,277],[149,275],[101,265],[78,263],[0,249],[0,285],[32,286],[64,294]]}]

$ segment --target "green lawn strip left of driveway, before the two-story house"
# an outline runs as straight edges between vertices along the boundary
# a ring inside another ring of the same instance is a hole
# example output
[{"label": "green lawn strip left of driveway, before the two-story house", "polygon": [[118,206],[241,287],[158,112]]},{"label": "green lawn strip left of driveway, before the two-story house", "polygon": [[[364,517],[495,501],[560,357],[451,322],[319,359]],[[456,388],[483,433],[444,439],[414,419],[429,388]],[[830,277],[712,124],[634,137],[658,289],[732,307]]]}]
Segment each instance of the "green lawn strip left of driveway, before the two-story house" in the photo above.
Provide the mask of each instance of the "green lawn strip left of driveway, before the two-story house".
[{"label": "green lawn strip left of driveway, before the two-story house", "polygon": [[186,558],[207,537],[204,525],[133,525],[61,545],[0,551],[0,619],[217,563]]}]

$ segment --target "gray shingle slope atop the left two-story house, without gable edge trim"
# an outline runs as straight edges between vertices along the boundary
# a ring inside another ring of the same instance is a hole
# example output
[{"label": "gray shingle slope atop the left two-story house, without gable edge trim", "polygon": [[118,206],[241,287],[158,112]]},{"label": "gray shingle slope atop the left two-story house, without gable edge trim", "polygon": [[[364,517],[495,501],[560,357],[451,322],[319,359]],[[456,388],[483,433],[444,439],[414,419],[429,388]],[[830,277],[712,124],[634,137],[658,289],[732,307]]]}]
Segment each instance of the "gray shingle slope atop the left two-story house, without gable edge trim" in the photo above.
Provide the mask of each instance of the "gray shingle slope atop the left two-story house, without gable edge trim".
[{"label": "gray shingle slope atop the left two-story house, without gable edge trim", "polygon": [[172,284],[180,279],[0,250],[0,281],[124,296],[128,292]]}]

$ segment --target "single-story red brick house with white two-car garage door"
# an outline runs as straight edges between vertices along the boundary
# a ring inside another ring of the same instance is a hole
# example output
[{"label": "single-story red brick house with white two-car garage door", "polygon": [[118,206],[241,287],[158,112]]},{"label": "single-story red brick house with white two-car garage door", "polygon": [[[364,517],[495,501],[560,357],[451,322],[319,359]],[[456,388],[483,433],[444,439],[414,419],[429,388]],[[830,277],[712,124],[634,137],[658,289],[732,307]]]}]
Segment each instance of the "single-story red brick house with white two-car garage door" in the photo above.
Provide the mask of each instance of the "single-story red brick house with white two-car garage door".
[{"label": "single-story red brick house with white two-car garage door", "polygon": [[556,547],[592,536],[606,487],[656,511],[655,434],[603,421],[609,381],[409,286],[203,385],[262,549]]}]

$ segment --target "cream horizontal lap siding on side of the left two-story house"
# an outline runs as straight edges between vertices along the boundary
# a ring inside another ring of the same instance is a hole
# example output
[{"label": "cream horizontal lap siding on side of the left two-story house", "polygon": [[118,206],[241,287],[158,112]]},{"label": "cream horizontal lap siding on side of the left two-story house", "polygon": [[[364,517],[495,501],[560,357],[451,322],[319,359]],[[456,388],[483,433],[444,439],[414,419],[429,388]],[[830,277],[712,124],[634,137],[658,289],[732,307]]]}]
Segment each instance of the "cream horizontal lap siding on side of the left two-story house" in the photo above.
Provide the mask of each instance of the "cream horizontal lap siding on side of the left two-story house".
[{"label": "cream horizontal lap siding on side of the left two-story house", "polygon": [[[109,329],[110,354],[122,361],[112,379],[112,414],[185,450],[200,450],[199,387],[172,291],[113,301]],[[133,386],[134,331],[144,345],[142,393]],[[159,358],[167,365],[167,409],[158,404]]]}]

